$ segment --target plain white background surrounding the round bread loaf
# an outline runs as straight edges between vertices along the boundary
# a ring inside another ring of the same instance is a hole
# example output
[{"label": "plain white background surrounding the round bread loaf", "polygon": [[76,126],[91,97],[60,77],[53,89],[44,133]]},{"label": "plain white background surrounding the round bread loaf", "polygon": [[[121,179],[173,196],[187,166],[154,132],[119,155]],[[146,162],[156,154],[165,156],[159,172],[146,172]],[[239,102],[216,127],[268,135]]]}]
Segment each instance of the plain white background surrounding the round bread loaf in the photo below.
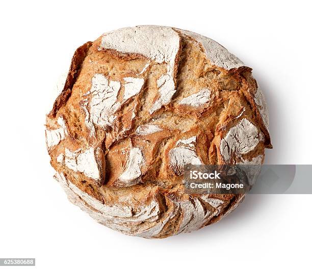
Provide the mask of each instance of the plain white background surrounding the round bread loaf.
[{"label": "plain white background surrounding the round bread loaf", "polygon": [[253,67],[270,112],[274,149],[266,151],[266,163],[312,164],[305,3],[2,2],[0,257],[34,257],[38,268],[310,266],[311,195],[249,195],[197,232],[125,236],[67,201],[53,179],[43,126],[76,47],[124,26],[168,25],[209,36]]}]

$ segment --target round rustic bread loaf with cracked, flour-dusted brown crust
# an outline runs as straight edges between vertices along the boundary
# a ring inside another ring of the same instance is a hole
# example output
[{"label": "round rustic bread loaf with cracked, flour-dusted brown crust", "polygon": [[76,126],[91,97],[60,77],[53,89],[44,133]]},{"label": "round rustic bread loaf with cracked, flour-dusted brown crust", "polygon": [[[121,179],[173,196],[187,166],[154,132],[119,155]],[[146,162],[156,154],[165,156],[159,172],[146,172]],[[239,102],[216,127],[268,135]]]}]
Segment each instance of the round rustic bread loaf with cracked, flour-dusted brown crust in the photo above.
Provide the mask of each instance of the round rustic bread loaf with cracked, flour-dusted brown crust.
[{"label": "round rustic bread loaf with cracked, flour-dusted brown crust", "polygon": [[72,203],[114,230],[163,238],[244,198],[186,194],[184,166],[262,164],[268,125],[251,68],[210,38],[147,25],[77,48],[46,144]]}]

